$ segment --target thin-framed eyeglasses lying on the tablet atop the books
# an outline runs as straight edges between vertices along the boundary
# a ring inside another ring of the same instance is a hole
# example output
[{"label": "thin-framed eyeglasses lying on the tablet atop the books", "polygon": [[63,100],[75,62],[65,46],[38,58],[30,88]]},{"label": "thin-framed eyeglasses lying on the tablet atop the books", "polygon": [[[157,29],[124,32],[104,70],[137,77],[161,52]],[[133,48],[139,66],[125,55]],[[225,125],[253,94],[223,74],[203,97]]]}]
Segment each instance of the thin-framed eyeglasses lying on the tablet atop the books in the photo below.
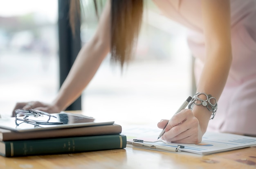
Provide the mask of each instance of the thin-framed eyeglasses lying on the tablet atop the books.
[{"label": "thin-framed eyeglasses lying on the tablet atop the books", "polygon": [[[24,116],[23,118],[19,118],[20,115]],[[47,118],[43,118],[43,116],[47,116]],[[29,119],[30,117],[30,119]],[[39,120],[34,120],[31,118],[40,118]],[[15,110],[15,124],[16,126],[19,126],[21,123],[29,123],[31,125],[39,126],[39,125],[61,125],[63,122],[49,122],[50,118],[57,118],[49,113],[46,113],[44,111],[39,110],[25,110],[25,109],[16,109]],[[17,120],[22,121],[18,124]]]}]

